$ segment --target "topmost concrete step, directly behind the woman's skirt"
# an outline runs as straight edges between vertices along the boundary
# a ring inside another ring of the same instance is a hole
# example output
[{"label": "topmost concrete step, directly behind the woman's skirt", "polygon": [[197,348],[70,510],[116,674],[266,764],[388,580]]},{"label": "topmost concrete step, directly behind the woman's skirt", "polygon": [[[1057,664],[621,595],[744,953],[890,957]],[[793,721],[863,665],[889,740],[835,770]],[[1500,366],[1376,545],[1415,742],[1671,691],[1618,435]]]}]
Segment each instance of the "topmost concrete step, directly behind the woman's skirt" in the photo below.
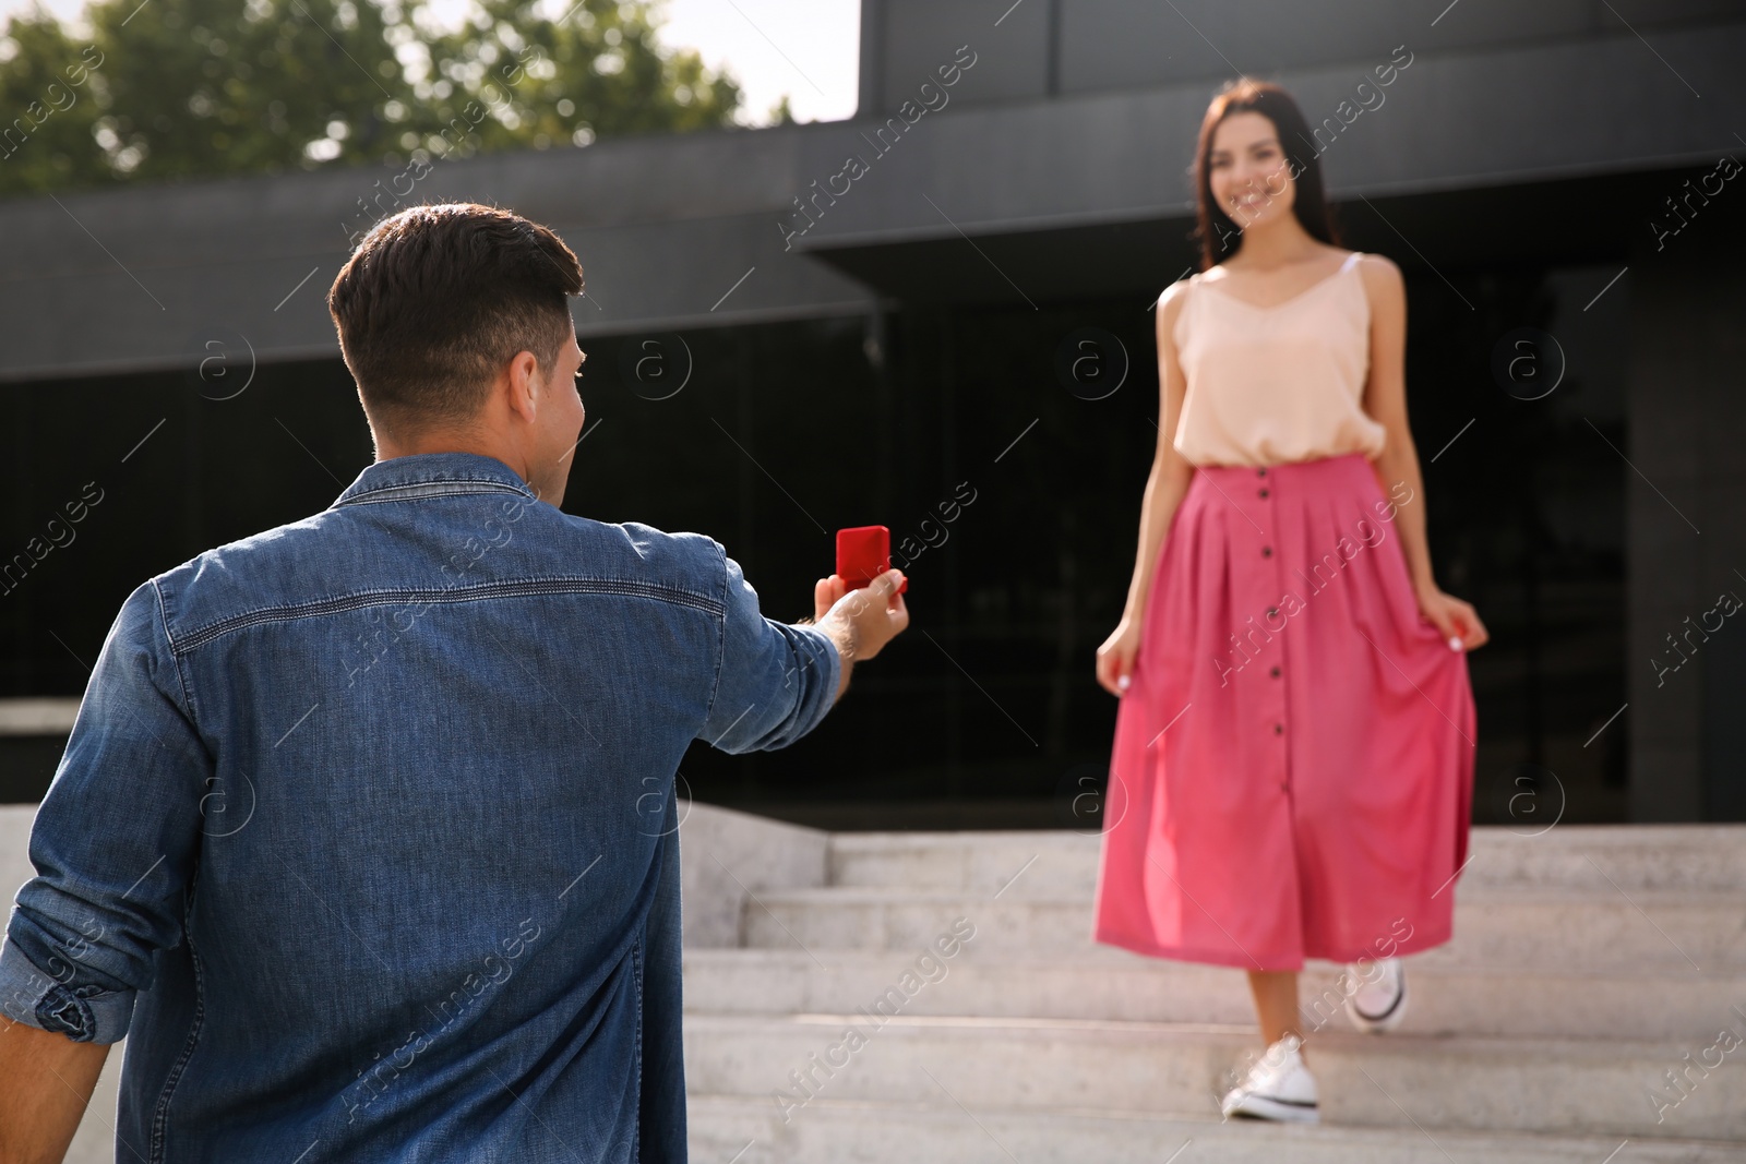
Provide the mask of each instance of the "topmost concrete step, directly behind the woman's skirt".
[{"label": "topmost concrete step, directly behind the woman's skirt", "polygon": [[[1055,895],[1096,885],[1102,838],[1062,829],[835,832],[831,885]],[[1475,825],[1460,885],[1746,890],[1746,825]]]}]

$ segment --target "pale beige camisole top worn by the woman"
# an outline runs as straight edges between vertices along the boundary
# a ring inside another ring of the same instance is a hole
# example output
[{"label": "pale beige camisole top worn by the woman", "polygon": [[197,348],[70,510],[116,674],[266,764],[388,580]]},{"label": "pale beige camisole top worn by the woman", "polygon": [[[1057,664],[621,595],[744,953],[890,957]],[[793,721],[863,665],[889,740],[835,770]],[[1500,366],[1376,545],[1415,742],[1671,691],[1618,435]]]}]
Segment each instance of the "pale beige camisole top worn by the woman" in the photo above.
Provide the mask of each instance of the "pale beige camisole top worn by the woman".
[{"label": "pale beige camisole top worn by the woman", "polygon": [[1262,466],[1383,452],[1364,412],[1371,304],[1358,253],[1283,304],[1255,307],[1189,279],[1175,326],[1187,380],[1173,447],[1189,464]]}]

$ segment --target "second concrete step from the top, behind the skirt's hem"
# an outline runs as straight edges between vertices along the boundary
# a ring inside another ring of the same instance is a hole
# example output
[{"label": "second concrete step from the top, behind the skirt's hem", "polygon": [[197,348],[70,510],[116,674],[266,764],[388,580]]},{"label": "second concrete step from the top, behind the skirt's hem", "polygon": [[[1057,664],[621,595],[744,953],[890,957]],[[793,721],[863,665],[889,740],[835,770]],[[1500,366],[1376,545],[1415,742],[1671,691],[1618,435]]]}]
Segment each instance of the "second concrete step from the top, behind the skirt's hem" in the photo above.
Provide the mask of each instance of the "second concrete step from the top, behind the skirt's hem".
[{"label": "second concrete step from the top, behind the skirt's hem", "polygon": [[[773,949],[925,948],[953,920],[976,927],[973,960],[1084,951],[1091,897],[1021,897],[901,887],[768,890],[746,904],[742,942]],[[1662,967],[1715,974],[1746,967],[1746,894],[1687,890],[1500,890],[1460,887],[1454,939],[1465,963],[1505,967]]]}]

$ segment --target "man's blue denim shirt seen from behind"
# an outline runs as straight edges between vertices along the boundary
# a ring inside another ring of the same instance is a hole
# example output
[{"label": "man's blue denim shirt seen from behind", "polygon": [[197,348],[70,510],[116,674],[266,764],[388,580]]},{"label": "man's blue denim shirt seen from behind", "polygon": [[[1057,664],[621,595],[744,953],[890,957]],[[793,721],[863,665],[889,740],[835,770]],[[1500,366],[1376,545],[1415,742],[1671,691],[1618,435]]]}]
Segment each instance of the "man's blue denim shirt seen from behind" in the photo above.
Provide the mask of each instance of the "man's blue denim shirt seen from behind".
[{"label": "man's blue denim shirt seen from behind", "polygon": [[375,462],[127,597],[0,1003],[127,1037],[122,1161],[684,1161],[674,773],[840,670],[712,537]]}]

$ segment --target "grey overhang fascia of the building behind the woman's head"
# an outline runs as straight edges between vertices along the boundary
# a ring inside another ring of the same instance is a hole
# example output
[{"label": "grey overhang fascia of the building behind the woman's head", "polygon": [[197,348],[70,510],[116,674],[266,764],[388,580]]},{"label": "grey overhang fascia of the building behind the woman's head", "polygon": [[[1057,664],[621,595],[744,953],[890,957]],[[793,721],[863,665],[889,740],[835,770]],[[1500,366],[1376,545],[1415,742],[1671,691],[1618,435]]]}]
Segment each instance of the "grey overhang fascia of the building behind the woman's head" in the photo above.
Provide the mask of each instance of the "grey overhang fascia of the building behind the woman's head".
[{"label": "grey overhang fascia of the building behind the woman's head", "polygon": [[[1364,77],[1357,66],[1282,77],[1311,124],[1336,119],[1337,136],[1322,140],[1336,195],[1659,169],[1739,148],[1732,110],[1746,105],[1746,72],[1737,68],[1746,24],[1666,31],[1655,51],[1622,33],[1407,52],[1411,63],[1371,112],[1355,103]],[[1678,61],[1678,75],[1669,61]],[[1212,86],[1189,84],[924,117],[883,154],[861,147],[871,173],[801,244],[1182,213],[1191,199],[1186,168],[1210,96]],[[826,159],[812,155],[807,164],[810,171]]]}]

